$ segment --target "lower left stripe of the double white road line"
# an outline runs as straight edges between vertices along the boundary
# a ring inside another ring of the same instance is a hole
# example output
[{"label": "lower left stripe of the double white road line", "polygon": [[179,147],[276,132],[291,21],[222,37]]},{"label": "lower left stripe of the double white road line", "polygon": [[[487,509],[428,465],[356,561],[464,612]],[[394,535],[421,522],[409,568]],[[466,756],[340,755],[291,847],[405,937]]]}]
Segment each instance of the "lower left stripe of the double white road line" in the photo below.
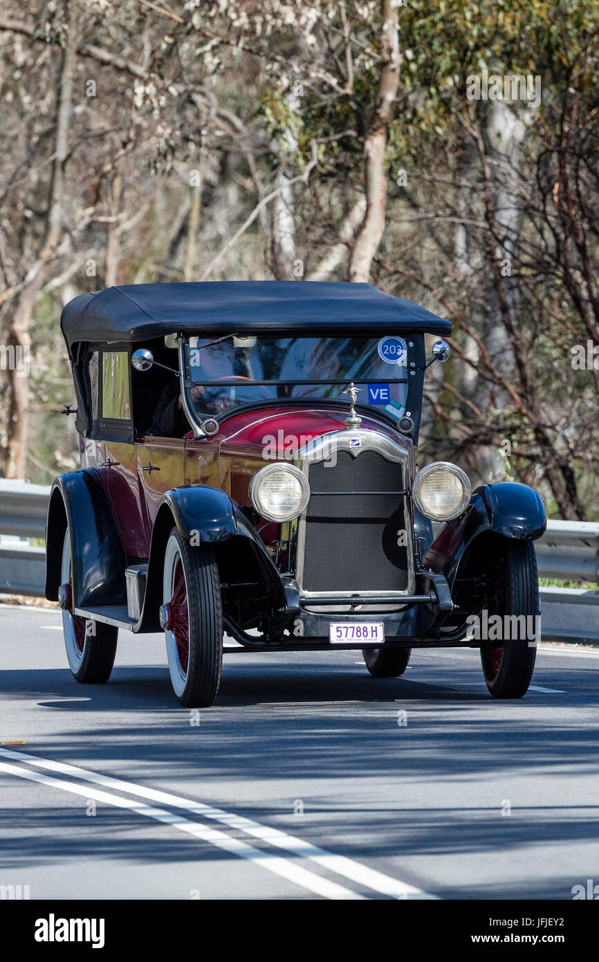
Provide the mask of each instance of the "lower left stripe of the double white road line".
[{"label": "lower left stripe of the double white road line", "polygon": [[281,875],[295,885],[308,889],[309,892],[322,896],[324,899],[363,899],[363,896],[357,892],[351,892],[349,889],[337,885],[336,882],[331,882],[327,878],[308,872],[280,855],[269,855],[260,848],[254,848],[240,839],[232,838],[230,835],[218,831],[216,828],[207,828],[197,822],[190,822],[183,816],[173,815],[163,808],[154,808],[142,801],[132,801],[130,798],[112,795],[110,792],[99,792],[97,789],[88,788],[86,785],[73,785],[71,782],[62,781],[62,778],[52,778],[50,775],[31,772],[21,766],[7,765],[6,762],[0,762],[0,772],[7,772],[7,774],[15,775],[17,778],[27,778],[30,781],[60,789],[62,792],[70,792],[72,795],[94,798],[96,801],[103,802],[106,805],[114,805],[116,808],[126,808],[131,812],[136,812],[137,815],[145,815],[148,819],[154,819],[156,822],[162,822],[172,828],[178,828],[179,831],[187,832],[188,835],[193,835],[195,838],[201,839],[202,842],[208,842],[215,848],[222,848],[224,851],[238,855],[239,858],[255,862],[262,869]]}]

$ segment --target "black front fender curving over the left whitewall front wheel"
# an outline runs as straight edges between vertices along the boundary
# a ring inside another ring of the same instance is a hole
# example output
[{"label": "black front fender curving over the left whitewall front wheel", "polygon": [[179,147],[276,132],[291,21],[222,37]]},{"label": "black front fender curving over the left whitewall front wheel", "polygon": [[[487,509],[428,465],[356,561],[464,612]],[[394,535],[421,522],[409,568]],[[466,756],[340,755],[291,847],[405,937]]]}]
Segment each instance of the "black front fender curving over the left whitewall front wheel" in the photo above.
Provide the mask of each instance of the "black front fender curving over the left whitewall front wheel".
[{"label": "black front fender curving over the left whitewall front wheel", "polygon": [[285,604],[281,575],[242,509],[218,488],[184,485],[163,494],[154,519],[143,611],[136,632],[161,630],[158,615],[162,602],[164,549],[173,526],[192,546],[212,544],[221,575],[226,569],[227,580],[230,577],[235,580],[236,573],[243,575],[240,580],[244,580],[248,551],[243,548],[251,546],[250,557],[256,561],[266,590],[273,596],[273,603]]}]

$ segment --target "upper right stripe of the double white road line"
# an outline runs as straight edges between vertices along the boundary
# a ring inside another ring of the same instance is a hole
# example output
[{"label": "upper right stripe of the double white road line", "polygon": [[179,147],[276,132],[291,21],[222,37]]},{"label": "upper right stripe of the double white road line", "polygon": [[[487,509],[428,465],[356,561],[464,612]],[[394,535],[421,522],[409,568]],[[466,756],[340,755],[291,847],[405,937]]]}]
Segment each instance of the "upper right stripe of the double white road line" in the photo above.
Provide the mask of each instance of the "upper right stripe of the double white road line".
[{"label": "upper right stripe of the double white road line", "polygon": [[317,865],[337,873],[337,875],[342,875],[344,878],[349,878],[351,881],[358,882],[366,888],[372,889],[374,892],[390,896],[393,899],[437,899],[437,896],[424,892],[422,889],[416,888],[408,882],[402,882],[400,879],[393,878],[391,875],[369,869],[367,866],[362,865],[361,862],[355,862],[345,855],[335,855],[325,848],[319,848],[310,842],[303,841],[303,839],[296,838],[293,835],[287,835],[286,832],[280,831],[277,828],[262,825],[259,822],[254,822],[252,819],[246,819],[243,816],[225,812],[220,808],[213,808],[212,805],[207,805],[201,801],[194,801],[190,798],[172,795],[170,792],[162,792],[159,789],[146,788],[135,784],[135,782],[112,778],[111,775],[89,772],[87,769],[80,769],[75,765],[66,765],[63,762],[53,762],[49,759],[38,758],[36,755],[28,755],[22,751],[11,751],[7,748],[0,748],[0,755],[12,758],[15,761],[27,762],[38,768],[72,775],[83,781],[104,785],[107,788],[128,792],[130,795],[150,798],[152,801],[160,801],[164,805],[184,808],[194,815],[226,824],[230,828],[237,828],[237,830],[244,832],[246,835],[252,835],[254,838],[262,839],[262,841],[268,842],[277,848],[284,848],[292,855],[310,859]]}]

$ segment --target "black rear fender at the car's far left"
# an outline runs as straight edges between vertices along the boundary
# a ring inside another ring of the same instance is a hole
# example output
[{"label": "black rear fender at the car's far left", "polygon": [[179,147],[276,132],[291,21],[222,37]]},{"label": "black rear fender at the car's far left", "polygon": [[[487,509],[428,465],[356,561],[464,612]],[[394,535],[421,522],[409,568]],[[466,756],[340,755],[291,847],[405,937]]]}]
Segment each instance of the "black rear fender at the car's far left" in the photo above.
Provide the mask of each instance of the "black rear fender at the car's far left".
[{"label": "black rear fender at the car's far left", "polygon": [[61,474],[52,485],[46,521],[45,595],[49,601],[58,600],[67,524],[74,606],[127,604],[127,556],[104,485],[93,468]]}]

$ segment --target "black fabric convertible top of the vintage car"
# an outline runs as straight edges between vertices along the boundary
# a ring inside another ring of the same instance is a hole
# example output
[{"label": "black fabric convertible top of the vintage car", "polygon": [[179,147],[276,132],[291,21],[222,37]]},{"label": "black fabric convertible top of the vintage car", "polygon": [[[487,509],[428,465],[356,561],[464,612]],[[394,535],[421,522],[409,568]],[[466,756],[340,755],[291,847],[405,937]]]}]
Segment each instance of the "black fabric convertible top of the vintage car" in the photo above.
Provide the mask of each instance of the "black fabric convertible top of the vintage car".
[{"label": "black fabric convertible top of the vintage car", "polygon": [[62,311],[78,341],[133,342],[162,334],[451,335],[449,320],[371,284],[329,281],[199,281],[129,284],[80,294]]}]

